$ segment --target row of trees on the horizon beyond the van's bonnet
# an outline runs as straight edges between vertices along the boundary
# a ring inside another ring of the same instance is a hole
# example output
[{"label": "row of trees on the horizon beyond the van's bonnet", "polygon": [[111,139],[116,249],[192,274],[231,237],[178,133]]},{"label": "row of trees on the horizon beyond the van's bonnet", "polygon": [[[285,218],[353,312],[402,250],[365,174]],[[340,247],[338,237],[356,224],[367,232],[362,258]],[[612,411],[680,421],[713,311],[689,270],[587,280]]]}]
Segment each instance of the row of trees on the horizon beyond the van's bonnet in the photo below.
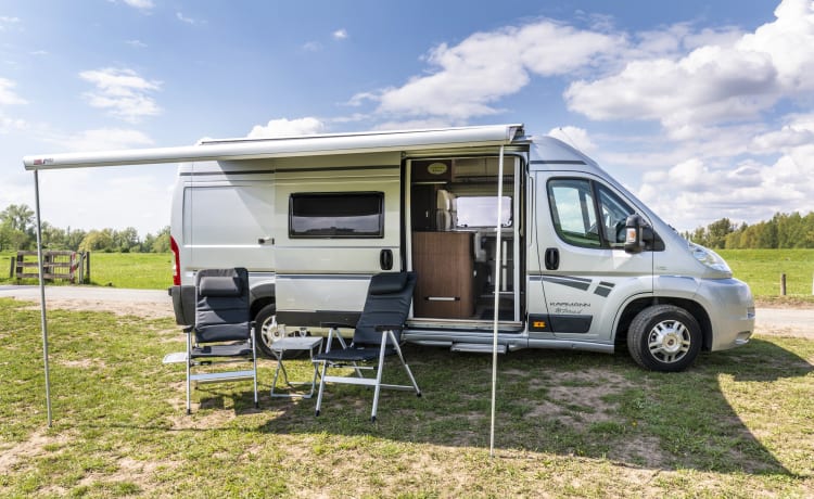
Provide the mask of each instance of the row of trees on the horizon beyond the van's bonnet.
[{"label": "row of trees on the horizon beyond the van's bonnet", "polygon": [[814,212],[777,213],[771,220],[737,226],[728,218],[685,232],[686,239],[715,250],[814,247]]}]

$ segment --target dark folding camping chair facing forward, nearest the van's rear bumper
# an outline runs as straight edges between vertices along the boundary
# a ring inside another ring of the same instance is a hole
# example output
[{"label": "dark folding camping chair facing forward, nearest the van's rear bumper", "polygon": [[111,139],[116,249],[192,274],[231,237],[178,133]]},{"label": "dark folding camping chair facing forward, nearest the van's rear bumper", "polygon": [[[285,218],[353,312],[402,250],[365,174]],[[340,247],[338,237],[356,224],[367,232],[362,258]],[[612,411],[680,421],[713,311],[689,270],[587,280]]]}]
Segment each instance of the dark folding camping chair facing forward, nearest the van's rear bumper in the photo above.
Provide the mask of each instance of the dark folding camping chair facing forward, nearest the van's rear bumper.
[{"label": "dark folding camping chair facing forward, nearest the van's rear bumper", "polygon": [[[187,413],[192,382],[252,380],[257,407],[257,350],[249,310],[249,272],[244,268],[204,269],[195,279],[195,324],[187,333]],[[193,342],[194,336],[194,342]],[[201,366],[251,361],[252,369],[192,372]]]}]

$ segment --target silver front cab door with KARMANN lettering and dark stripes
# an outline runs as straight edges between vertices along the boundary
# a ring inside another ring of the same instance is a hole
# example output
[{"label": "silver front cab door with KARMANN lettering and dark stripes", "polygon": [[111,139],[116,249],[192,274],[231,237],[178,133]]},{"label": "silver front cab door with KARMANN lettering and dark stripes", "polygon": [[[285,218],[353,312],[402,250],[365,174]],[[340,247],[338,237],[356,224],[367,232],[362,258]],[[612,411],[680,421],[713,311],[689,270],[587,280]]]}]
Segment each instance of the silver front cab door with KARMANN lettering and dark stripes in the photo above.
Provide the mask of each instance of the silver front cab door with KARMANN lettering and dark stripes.
[{"label": "silver front cab door with KARMANN lettering and dark stripes", "polygon": [[652,253],[624,251],[632,203],[594,177],[537,171],[534,183],[547,332],[609,341],[621,305],[632,295],[652,292]]}]

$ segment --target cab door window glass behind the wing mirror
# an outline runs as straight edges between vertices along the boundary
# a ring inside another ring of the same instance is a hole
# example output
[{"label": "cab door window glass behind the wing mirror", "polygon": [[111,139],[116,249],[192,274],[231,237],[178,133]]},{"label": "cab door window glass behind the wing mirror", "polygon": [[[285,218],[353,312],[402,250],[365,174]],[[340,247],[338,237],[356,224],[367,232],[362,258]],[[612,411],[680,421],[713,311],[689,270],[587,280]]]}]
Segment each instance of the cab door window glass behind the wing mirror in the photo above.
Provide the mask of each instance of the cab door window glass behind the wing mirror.
[{"label": "cab door window glass behind the wing mirror", "polygon": [[574,246],[623,247],[624,225],[633,209],[613,192],[587,179],[548,182],[557,234]]}]

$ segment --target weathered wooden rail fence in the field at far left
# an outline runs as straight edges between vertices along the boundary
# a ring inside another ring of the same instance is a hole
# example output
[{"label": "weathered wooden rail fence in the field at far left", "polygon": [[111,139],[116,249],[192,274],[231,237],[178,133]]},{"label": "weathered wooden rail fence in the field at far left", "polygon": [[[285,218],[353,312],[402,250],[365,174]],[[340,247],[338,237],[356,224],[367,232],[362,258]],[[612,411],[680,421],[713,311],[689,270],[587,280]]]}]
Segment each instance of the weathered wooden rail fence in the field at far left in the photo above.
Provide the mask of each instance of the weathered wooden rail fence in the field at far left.
[{"label": "weathered wooden rail fence in the field at far left", "polygon": [[[17,279],[39,278],[37,252],[17,252],[16,258],[11,259],[11,267],[14,270],[11,273]],[[79,284],[90,282],[90,252],[42,252],[42,278],[78,281]]]}]

